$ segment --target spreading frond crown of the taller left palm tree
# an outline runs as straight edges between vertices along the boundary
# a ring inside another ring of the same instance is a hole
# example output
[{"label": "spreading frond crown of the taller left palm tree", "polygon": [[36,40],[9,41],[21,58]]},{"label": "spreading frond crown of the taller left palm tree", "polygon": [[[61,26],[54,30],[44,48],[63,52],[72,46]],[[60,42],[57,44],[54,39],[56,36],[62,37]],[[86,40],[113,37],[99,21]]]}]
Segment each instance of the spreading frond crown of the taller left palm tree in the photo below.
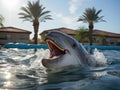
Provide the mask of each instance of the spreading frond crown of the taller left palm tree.
[{"label": "spreading frond crown of the taller left palm tree", "polygon": [[21,10],[22,12],[18,15],[20,15],[20,18],[24,21],[34,21],[34,19],[40,21],[45,21],[45,19],[52,20],[51,15],[48,15],[50,11],[45,11],[45,7],[40,4],[40,0],[37,0],[36,2],[28,1],[27,6],[22,7]]}]

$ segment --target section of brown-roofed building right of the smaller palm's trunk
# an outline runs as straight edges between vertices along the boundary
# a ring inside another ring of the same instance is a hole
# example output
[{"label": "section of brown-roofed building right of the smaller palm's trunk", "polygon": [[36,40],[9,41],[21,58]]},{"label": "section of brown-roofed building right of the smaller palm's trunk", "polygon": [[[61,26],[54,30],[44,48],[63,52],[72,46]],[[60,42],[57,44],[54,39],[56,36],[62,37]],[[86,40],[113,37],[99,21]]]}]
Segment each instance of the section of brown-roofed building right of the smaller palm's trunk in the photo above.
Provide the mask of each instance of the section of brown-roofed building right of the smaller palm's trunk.
[{"label": "section of brown-roofed building right of the smaller palm's trunk", "polygon": [[120,45],[120,34],[102,30],[94,30],[93,40],[95,43],[102,45]]}]

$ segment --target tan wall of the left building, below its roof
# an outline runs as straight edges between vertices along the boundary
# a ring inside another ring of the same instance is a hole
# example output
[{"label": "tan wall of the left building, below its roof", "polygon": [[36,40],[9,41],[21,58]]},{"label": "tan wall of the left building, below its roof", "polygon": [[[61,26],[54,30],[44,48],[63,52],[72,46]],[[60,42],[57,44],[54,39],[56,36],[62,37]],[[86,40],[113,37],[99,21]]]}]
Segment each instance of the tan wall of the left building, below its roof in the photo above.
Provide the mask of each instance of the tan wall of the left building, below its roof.
[{"label": "tan wall of the left building, below its roof", "polygon": [[6,43],[29,43],[29,34],[27,33],[0,33],[0,44]]}]

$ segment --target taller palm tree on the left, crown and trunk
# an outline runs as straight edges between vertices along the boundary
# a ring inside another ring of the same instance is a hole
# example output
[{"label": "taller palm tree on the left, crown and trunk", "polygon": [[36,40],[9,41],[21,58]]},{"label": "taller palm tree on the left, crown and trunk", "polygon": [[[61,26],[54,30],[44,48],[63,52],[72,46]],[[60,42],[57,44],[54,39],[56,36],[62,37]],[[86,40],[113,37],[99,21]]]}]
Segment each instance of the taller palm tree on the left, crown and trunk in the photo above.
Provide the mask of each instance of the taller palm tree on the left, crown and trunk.
[{"label": "taller palm tree on the left, crown and trunk", "polygon": [[37,44],[38,40],[38,29],[40,22],[45,22],[46,20],[51,20],[51,15],[48,15],[50,11],[45,11],[45,7],[40,4],[40,1],[30,2],[26,7],[21,7],[22,12],[19,13],[20,18],[23,21],[30,21],[33,23],[34,27],[34,43]]}]

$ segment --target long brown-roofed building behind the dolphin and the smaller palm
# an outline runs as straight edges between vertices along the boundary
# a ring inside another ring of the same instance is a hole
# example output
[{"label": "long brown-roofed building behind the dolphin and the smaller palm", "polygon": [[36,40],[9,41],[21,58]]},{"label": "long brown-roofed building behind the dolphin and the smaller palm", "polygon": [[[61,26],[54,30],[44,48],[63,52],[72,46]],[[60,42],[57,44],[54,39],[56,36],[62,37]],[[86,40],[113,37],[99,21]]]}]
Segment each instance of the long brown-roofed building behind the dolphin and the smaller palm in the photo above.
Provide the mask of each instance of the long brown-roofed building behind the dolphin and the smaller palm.
[{"label": "long brown-roofed building behind the dolphin and the smaller palm", "polygon": [[[42,37],[45,37],[45,35],[51,31],[60,31],[71,36],[76,35],[76,30],[64,28],[64,27],[45,30],[40,35]],[[85,44],[89,44],[89,42]],[[102,30],[93,30],[93,44],[94,45],[120,45],[120,34],[106,32]]]}]

